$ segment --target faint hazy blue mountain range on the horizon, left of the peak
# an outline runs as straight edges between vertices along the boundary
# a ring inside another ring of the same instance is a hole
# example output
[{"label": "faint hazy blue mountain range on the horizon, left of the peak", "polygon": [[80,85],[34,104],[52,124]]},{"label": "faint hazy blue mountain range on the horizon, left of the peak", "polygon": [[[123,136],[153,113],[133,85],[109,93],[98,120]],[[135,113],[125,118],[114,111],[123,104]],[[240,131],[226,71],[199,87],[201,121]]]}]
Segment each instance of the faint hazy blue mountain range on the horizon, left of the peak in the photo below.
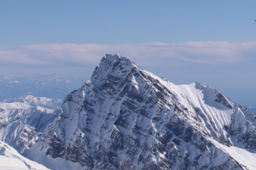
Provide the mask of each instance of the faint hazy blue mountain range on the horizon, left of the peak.
[{"label": "faint hazy blue mountain range on the horizon, left of the peak", "polygon": [[24,95],[64,99],[66,94],[84,84],[84,79],[60,74],[39,77],[0,77],[0,99]]}]

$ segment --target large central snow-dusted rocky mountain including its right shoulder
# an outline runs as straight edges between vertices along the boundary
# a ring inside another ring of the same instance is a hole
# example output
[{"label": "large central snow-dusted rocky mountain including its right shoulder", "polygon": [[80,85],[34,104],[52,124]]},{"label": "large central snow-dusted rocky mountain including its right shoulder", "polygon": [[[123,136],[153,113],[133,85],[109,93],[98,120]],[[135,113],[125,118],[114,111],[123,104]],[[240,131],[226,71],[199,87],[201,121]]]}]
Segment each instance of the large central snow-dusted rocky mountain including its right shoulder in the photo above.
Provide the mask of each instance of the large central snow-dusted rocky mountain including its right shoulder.
[{"label": "large central snow-dusted rocky mountain including its right shoulder", "polygon": [[107,54],[26,152],[77,169],[246,169],[229,148],[255,152],[255,123],[212,88],[177,86]]}]

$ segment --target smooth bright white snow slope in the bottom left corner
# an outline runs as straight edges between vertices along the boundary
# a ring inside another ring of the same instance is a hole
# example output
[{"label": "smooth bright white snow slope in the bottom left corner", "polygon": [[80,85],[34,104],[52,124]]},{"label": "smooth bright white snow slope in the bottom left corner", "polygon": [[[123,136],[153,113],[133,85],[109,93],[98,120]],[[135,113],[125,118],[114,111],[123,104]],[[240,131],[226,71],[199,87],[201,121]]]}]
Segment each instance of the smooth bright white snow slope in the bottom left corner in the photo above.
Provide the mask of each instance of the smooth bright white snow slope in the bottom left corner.
[{"label": "smooth bright white snow slope in the bottom left corner", "polygon": [[14,148],[0,141],[0,168],[2,170],[49,170],[35,161],[21,156]]}]

